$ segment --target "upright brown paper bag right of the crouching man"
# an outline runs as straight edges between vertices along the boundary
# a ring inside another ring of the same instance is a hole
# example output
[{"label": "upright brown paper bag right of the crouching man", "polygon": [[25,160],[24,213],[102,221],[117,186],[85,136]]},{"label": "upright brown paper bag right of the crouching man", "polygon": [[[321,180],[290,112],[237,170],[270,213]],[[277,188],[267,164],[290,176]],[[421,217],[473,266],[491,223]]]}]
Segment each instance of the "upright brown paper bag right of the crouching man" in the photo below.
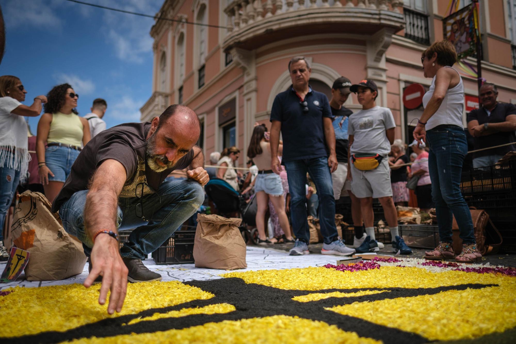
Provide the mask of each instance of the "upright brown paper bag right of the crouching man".
[{"label": "upright brown paper bag right of the crouching man", "polygon": [[247,268],[246,242],[238,226],[242,219],[199,214],[193,243],[198,268],[234,270]]}]

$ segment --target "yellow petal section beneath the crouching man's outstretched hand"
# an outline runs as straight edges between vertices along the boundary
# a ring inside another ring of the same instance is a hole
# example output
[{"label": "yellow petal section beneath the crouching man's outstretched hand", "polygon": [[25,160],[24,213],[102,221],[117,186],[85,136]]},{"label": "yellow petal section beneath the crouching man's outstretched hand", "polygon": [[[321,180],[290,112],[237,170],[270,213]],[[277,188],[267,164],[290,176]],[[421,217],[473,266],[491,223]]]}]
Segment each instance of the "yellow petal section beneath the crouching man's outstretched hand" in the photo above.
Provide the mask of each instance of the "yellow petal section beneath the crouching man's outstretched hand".
[{"label": "yellow petal section beneath the crouching man's outstretched hand", "polygon": [[[122,312],[109,315],[107,303],[104,306],[99,305],[100,287],[101,284],[90,288],[81,284],[69,284],[6,289],[13,292],[0,297],[2,319],[9,319],[0,326],[0,337],[67,331],[105,318],[214,297],[212,293],[178,281],[130,283],[127,285]],[[21,310],[24,312],[21,313]]]}]

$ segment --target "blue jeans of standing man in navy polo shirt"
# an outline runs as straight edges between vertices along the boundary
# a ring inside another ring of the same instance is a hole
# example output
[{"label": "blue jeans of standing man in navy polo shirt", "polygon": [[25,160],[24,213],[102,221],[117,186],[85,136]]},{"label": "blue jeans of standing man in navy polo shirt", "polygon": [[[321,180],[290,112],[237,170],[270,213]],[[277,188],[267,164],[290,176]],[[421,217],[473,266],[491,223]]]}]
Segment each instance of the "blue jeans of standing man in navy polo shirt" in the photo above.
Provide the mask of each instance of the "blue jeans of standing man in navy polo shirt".
[{"label": "blue jeans of standing man in navy polo shirt", "polygon": [[319,195],[319,223],[325,243],[331,243],[338,236],[335,227],[335,199],[328,158],[285,161],[288,189],[291,194],[291,217],[294,235],[301,241],[310,242],[307,221],[307,172]]}]

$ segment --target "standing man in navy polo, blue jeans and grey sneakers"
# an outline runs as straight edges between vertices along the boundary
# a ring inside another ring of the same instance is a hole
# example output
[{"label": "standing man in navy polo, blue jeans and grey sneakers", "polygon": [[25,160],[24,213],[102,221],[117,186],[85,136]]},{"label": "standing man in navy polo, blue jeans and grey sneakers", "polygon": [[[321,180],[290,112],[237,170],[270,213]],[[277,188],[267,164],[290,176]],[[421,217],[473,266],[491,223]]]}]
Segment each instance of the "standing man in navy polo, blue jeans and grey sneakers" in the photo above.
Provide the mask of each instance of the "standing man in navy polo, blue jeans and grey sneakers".
[{"label": "standing man in navy polo, blue jeans and grey sneakers", "polygon": [[[291,194],[291,217],[296,243],[291,255],[309,254],[305,181],[307,172],[319,195],[319,221],[324,238],[322,254],[350,255],[355,252],[338,238],[331,172],[337,168],[332,114],[325,94],[312,90],[311,69],[303,57],[288,62],[292,85],[276,96],[270,121],[271,168],[279,174],[278,145],[283,135],[283,158]],[[329,154],[327,151],[329,149]]]}]

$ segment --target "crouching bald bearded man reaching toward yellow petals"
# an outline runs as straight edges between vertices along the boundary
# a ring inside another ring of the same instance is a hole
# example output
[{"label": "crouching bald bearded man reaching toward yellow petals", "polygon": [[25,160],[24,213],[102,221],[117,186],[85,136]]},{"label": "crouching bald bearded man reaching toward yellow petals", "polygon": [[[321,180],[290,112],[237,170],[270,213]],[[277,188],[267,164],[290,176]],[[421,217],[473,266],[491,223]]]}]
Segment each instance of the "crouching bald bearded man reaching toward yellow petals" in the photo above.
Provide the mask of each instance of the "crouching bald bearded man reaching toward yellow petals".
[{"label": "crouching bald bearded man reaching toward yellow petals", "polygon": [[[202,152],[194,146],[199,134],[196,113],[172,105],[152,122],[104,130],[73,163],[52,211],[59,211],[65,231],[83,242],[90,258],[84,285],[102,276],[100,304],[111,290],[109,314],[121,311],[127,281],[161,280],[141,259],[204,201],[202,186],[209,178]],[[164,182],[174,169],[187,167],[189,179]],[[128,228],[135,230],[119,250],[118,230]]]}]

